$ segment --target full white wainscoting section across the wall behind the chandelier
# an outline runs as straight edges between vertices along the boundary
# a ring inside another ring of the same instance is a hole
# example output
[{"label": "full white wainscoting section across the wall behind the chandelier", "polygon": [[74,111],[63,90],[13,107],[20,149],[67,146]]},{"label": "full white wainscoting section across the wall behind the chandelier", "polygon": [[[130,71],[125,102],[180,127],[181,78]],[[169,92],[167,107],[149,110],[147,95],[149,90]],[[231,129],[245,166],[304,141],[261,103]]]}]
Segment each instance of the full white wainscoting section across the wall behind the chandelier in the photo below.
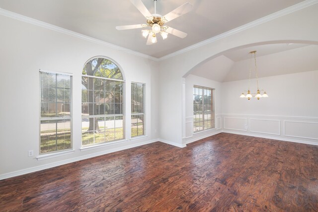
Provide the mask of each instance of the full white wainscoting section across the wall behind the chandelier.
[{"label": "full white wainscoting section across the wall behind the chandelier", "polygon": [[225,133],[318,145],[318,117],[246,114],[221,116],[222,132]]}]

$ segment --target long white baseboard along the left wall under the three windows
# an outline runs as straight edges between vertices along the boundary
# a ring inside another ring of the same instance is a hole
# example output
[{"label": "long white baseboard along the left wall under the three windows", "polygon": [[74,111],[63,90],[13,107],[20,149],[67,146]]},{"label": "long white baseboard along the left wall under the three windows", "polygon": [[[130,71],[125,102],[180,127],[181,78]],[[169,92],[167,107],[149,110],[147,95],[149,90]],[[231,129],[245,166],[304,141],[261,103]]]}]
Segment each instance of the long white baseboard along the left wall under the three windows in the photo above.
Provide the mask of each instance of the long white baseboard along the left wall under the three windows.
[{"label": "long white baseboard along the left wall under the three windows", "polygon": [[76,161],[79,161],[79,160],[84,160],[84,159],[88,159],[88,158],[92,158],[92,157],[96,157],[96,156],[100,156],[100,155],[103,155],[103,154],[108,154],[108,153],[115,152],[115,151],[120,151],[120,150],[125,150],[125,149],[128,149],[128,148],[133,148],[133,147],[137,147],[137,146],[153,143],[153,142],[156,142],[156,141],[160,141],[160,140],[159,139],[154,139],[154,140],[151,140],[151,141],[133,143],[133,144],[130,144],[130,145],[121,146],[121,147],[118,147],[118,148],[113,148],[113,149],[104,150],[104,151],[99,151],[99,152],[95,152],[95,153],[92,153],[92,154],[86,154],[86,155],[83,155],[83,156],[74,157],[74,158],[70,158],[70,159],[67,159],[67,160],[61,160],[61,161],[57,161],[57,162],[54,162],[54,163],[49,163],[49,164],[45,164],[45,165],[35,166],[35,167],[32,167],[32,168],[27,168],[27,169],[22,169],[22,170],[18,170],[18,171],[13,171],[13,172],[1,174],[0,175],[0,180],[11,178],[11,177],[16,177],[16,176],[23,175],[23,174],[29,174],[29,173],[32,173],[32,172],[41,171],[41,170],[48,169],[48,168],[53,168],[53,167],[56,167],[56,166],[60,166],[60,165],[64,165],[64,164],[68,164],[68,163],[72,163],[72,162],[76,162]]}]

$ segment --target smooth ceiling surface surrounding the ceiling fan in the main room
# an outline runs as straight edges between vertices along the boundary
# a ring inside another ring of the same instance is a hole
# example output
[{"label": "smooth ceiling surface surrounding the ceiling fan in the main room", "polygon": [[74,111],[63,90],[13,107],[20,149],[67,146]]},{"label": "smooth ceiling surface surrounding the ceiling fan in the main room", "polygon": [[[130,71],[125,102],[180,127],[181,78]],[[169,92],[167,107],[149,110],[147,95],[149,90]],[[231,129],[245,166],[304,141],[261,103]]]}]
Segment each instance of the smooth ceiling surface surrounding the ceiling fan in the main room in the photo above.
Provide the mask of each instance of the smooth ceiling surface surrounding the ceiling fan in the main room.
[{"label": "smooth ceiling surface surrounding the ceiling fan in the main room", "polygon": [[[142,1],[154,13],[153,0]],[[0,0],[0,7],[160,58],[304,0],[158,0],[157,13],[164,15],[186,1],[193,4],[193,10],[166,25],[188,36],[180,39],[169,35],[151,46],[146,45],[140,29],[115,29],[117,25],[146,22],[130,0]],[[243,57],[232,53],[225,56],[233,61]]]}]

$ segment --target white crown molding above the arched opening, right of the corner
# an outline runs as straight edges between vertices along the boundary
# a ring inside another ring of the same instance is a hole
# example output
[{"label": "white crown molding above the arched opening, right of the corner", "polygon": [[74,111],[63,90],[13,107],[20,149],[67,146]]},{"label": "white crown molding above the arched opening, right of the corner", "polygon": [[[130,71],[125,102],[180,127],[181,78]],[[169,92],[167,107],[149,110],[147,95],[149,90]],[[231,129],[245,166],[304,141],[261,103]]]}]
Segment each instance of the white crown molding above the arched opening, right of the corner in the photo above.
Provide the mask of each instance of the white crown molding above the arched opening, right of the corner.
[{"label": "white crown molding above the arched opening, right of the corner", "polygon": [[220,39],[226,38],[228,36],[234,35],[236,33],[239,33],[239,32],[244,31],[246,29],[252,28],[252,27],[257,26],[257,25],[260,25],[262,23],[266,23],[268,21],[274,20],[274,19],[282,17],[284,15],[288,15],[290,13],[293,13],[293,12],[296,12],[298,10],[304,9],[306,7],[312,6],[312,5],[316,4],[316,3],[318,3],[318,0],[305,0],[303,2],[300,2],[298,4],[292,5],[290,7],[282,9],[280,11],[274,12],[274,13],[272,13],[270,15],[265,16],[265,17],[259,18],[257,20],[252,21],[252,22],[249,22],[247,24],[239,26],[239,27],[237,27],[235,29],[232,29],[230,31],[224,32],[222,34],[216,35],[216,36],[214,36],[212,38],[209,38],[207,40],[204,40],[204,41],[201,41],[199,43],[196,43],[196,44],[194,44],[192,46],[188,46],[188,47],[186,47],[184,49],[181,49],[181,50],[178,50],[178,51],[173,52],[171,54],[168,54],[166,56],[163,56],[163,57],[159,58],[158,60],[159,61],[163,61],[163,60],[166,60],[168,58],[172,58],[174,56],[177,56],[177,55],[180,55],[182,53],[188,52],[188,51],[190,51],[192,49],[196,49],[196,48],[199,48],[201,46],[207,45],[209,43],[213,43],[213,42],[215,42],[217,40],[220,40]]}]

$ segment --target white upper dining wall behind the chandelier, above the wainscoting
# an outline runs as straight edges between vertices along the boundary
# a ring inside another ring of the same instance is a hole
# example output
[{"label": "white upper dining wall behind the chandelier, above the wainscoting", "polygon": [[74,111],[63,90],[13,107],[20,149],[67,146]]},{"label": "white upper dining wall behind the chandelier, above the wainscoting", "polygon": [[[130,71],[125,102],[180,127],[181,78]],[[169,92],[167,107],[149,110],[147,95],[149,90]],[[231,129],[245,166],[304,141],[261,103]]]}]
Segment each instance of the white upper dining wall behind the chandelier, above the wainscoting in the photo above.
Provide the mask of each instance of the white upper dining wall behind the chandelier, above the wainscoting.
[{"label": "white upper dining wall behind the chandelier, above the wainscoting", "polygon": [[[256,79],[250,83],[251,92],[255,92]],[[258,83],[269,98],[239,98],[242,91],[247,90],[247,79],[222,83],[222,113],[318,117],[318,71],[262,77]]]}]

